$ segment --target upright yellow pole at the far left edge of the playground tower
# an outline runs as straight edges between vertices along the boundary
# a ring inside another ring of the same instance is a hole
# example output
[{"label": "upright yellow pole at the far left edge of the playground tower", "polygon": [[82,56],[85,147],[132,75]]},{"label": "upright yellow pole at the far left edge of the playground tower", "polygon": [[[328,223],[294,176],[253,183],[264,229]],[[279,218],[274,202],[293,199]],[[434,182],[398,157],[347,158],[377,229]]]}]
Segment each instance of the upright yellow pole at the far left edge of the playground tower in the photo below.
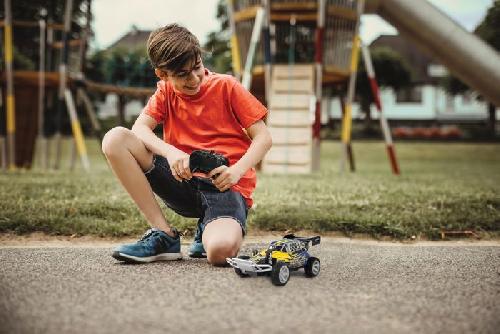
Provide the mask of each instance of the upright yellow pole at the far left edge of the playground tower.
[{"label": "upright yellow pole at the far left edge of the playground tower", "polygon": [[4,1],[5,8],[5,75],[7,81],[7,146],[9,170],[16,168],[16,108],[14,98],[14,73],[12,68],[12,7],[10,0]]}]

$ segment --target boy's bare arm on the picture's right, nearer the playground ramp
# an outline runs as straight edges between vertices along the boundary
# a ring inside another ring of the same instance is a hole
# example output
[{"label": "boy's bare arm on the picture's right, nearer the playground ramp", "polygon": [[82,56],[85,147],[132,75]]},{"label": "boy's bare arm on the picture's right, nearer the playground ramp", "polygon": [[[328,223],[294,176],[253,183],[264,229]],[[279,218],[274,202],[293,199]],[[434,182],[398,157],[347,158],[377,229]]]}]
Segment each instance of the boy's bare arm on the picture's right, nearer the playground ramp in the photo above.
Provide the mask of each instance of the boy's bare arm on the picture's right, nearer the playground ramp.
[{"label": "boy's bare arm on the picture's right, nearer the playground ramp", "polygon": [[241,159],[231,167],[221,166],[208,174],[209,177],[220,174],[213,181],[220,191],[226,191],[238,183],[250,168],[257,165],[264,158],[272,146],[271,134],[264,121],[259,120],[246,130],[250,138],[252,138],[252,143]]}]

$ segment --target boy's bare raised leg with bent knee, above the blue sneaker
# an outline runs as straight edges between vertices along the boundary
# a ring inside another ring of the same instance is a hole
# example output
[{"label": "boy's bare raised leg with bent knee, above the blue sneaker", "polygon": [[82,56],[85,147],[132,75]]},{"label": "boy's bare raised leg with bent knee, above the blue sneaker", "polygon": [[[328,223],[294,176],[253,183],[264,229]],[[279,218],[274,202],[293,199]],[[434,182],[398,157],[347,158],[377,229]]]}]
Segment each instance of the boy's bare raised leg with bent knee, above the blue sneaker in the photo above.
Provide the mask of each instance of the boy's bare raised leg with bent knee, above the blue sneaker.
[{"label": "boy's bare raised leg with bent knee, above the blue sneaker", "polygon": [[144,175],[144,171],[152,167],[153,154],[146,149],[143,142],[129,129],[116,127],[104,136],[102,151],[111,169],[148,223],[171,237],[175,237],[175,232],[167,224]]}]

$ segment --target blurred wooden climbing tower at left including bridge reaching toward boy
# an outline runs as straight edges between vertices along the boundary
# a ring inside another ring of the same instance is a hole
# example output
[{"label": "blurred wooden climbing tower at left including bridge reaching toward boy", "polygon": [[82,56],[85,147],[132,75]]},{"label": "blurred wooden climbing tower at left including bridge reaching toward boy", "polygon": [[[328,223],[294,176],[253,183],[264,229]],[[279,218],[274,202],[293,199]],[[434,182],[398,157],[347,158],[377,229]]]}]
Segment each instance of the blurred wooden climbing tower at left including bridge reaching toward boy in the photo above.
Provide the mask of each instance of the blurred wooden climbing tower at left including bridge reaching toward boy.
[{"label": "blurred wooden climbing tower at left including bridge reaching toward boy", "polygon": [[[10,15],[11,0],[4,1],[5,8],[9,9],[6,10],[6,14]],[[58,2],[63,3],[64,6],[62,20],[56,18],[56,3]],[[71,169],[74,167],[78,152],[82,166],[88,169],[90,164],[78,119],[78,107],[83,108],[94,134],[102,140],[101,126],[89,93],[117,94],[120,97],[117,104],[120,116],[124,116],[126,99],[143,101],[154,93],[154,88],[100,84],[84,77],[85,53],[90,36],[91,0],[51,0],[47,2],[47,6],[47,10],[42,9],[37,21],[16,20],[15,17],[10,20],[12,21],[10,26],[14,27],[14,32],[23,30],[22,33],[25,35],[39,36],[38,43],[22,45],[18,42],[16,44],[16,40],[13,41],[12,37],[4,38],[5,43],[2,43],[6,66],[1,76],[0,97],[3,95],[6,103],[3,98],[0,99],[0,165],[4,170],[7,169],[7,163],[10,169],[14,166],[30,168],[33,165],[35,148],[36,161],[41,167],[60,168],[62,155],[60,138],[69,132],[69,127],[64,120],[65,112],[68,114],[74,139],[69,167]],[[78,23],[72,20],[77,7],[85,16],[78,20]],[[56,23],[57,20],[64,21],[64,24]],[[5,36],[12,34],[12,28],[9,29],[8,26],[8,20],[0,21],[0,28],[3,28]],[[9,75],[7,61],[12,61],[13,56],[8,56],[7,51],[12,51],[14,46],[20,54],[24,54],[37,63],[38,71],[16,69],[12,70]],[[7,94],[7,91],[10,91],[9,85],[12,86],[11,94]],[[12,98],[6,98],[6,95]],[[38,102],[38,108],[35,101]],[[3,107],[6,104],[9,104],[8,108]],[[7,115],[3,114],[5,109],[7,109]],[[3,126],[6,121],[8,121],[8,126]],[[7,138],[5,138],[4,129],[9,130]],[[16,132],[19,134],[17,137]],[[53,147],[56,150],[51,156]]]}]

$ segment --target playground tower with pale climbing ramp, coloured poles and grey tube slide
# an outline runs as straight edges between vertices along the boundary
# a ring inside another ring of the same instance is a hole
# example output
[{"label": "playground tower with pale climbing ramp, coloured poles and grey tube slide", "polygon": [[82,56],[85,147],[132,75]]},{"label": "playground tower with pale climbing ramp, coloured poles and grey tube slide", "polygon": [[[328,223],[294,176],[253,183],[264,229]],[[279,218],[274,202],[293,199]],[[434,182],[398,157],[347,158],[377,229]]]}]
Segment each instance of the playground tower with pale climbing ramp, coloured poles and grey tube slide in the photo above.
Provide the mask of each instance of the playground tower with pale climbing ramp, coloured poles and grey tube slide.
[{"label": "playground tower with pale climbing ramp, coloured poles and grey tube slide", "polygon": [[[436,57],[450,70],[500,106],[500,57],[425,0],[228,0],[232,29],[233,69],[241,75],[241,60],[253,59],[252,93],[267,102],[267,123],[273,148],[263,171],[308,173],[319,168],[322,90],[347,85],[342,110],[341,170],[351,148],[351,105],[358,62],[358,29],[362,13],[377,13]],[[365,8],[364,8],[365,7]],[[264,12],[262,26],[257,13]],[[257,24],[256,24],[257,22]],[[250,47],[252,31],[262,29],[262,42]],[[366,63],[371,62],[367,49]],[[248,64],[248,63],[247,63]],[[367,66],[368,67],[368,66]],[[248,72],[248,71],[247,71]],[[375,74],[369,72],[374,100],[391,168],[399,173],[387,120],[383,117]]]}]

